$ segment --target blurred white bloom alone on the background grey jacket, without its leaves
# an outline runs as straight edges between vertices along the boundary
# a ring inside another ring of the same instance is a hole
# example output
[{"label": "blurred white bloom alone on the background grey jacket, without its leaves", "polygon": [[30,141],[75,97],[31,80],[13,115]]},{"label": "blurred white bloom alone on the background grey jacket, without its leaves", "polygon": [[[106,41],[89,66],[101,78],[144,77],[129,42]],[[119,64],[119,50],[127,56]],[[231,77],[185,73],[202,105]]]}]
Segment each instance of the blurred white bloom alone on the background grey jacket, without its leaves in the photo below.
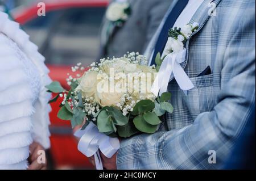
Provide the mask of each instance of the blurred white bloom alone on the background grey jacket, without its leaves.
[{"label": "blurred white bloom alone on the background grey jacket, without its leaves", "polygon": [[112,22],[125,18],[125,7],[123,3],[111,3],[106,11],[106,18]]}]

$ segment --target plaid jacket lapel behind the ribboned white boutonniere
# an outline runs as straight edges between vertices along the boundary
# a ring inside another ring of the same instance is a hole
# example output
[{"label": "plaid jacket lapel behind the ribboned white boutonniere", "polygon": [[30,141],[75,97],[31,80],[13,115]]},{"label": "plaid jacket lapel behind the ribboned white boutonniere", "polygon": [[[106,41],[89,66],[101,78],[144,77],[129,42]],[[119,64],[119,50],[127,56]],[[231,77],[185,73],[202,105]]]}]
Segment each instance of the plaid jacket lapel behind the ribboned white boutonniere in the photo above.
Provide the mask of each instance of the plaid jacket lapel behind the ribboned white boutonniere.
[{"label": "plaid jacket lapel behind the ribboned white boutonniere", "polygon": [[[209,0],[205,0],[201,6],[199,7],[199,9],[195,12],[195,14],[192,16],[191,20],[189,23],[193,24],[195,22],[199,23],[199,28],[192,33],[190,39],[193,38],[194,35],[196,35],[196,33],[198,33],[201,28],[204,27],[205,23],[207,23],[207,20],[210,18],[209,15],[209,11],[212,9],[213,6],[210,6],[210,3],[214,3],[217,7],[218,3],[220,3],[222,0],[213,0],[213,1],[209,1]],[[185,61],[180,64],[181,68],[185,69],[185,66],[187,65],[187,61],[188,61],[188,56],[189,56],[189,40],[187,41],[185,47],[187,49],[187,56]],[[170,82],[174,79],[174,75],[172,74],[170,77]]]}]

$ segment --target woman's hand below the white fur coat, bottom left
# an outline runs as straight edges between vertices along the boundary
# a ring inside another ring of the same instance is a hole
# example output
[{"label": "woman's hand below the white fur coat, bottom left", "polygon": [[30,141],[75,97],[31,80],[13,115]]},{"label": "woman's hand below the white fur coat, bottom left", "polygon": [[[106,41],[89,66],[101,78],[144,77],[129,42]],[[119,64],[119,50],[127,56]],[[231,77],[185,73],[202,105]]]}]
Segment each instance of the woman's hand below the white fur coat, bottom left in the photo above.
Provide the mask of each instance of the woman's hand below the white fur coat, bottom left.
[{"label": "woman's hand below the white fur coat, bottom left", "polygon": [[30,162],[30,166],[28,166],[28,170],[46,170],[46,163],[38,163],[38,151],[44,150],[43,146],[41,146],[38,142],[33,142],[30,145],[30,157],[28,161]]}]

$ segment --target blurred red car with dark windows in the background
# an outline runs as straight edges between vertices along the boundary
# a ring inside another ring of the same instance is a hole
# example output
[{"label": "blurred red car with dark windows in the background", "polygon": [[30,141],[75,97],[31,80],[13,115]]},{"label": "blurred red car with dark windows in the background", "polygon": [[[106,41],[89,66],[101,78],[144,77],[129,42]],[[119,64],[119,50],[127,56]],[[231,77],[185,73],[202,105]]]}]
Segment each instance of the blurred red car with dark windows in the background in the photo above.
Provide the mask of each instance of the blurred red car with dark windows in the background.
[{"label": "blurred red car with dark windows in the background", "polygon": [[[42,2],[42,1],[41,1]],[[37,4],[11,11],[13,18],[30,35],[46,57],[50,77],[67,87],[65,79],[71,66],[88,66],[99,51],[99,31],[108,1],[43,1],[46,16],[38,16]],[[77,150],[69,121],[57,118],[60,101],[52,104],[50,169],[92,169],[88,159]]]}]

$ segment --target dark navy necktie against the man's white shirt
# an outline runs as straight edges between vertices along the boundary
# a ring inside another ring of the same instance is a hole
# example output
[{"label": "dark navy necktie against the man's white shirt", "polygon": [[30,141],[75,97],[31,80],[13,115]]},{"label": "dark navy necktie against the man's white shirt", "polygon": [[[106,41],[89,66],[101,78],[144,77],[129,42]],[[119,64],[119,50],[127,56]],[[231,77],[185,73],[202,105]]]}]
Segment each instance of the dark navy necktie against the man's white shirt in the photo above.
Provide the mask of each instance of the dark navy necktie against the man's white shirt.
[{"label": "dark navy necktie against the man's white shirt", "polygon": [[172,9],[170,14],[168,15],[166,22],[164,23],[164,26],[162,28],[162,31],[160,32],[160,35],[158,37],[158,41],[156,41],[151,65],[155,64],[156,54],[158,54],[158,52],[163,52],[164,47],[166,46],[168,40],[168,30],[174,26],[174,23],[176,22],[177,18],[179,17],[185,6],[187,6],[188,1],[189,0],[178,0],[176,5],[174,6],[174,9]]}]

